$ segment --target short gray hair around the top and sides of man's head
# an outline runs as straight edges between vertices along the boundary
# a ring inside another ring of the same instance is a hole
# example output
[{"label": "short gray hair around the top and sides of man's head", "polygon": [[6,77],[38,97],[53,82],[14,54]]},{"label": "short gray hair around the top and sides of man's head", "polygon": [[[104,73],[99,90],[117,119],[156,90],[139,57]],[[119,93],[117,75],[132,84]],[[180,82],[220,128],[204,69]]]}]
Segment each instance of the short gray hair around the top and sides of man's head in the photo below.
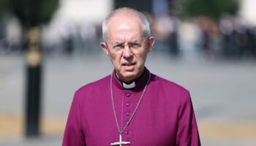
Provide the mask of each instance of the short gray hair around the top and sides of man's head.
[{"label": "short gray hair around the top and sides of man's head", "polygon": [[119,13],[123,13],[123,12],[129,12],[130,14],[133,13],[135,15],[138,15],[138,17],[140,18],[140,20],[142,22],[143,37],[146,37],[146,38],[151,37],[151,29],[150,29],[150,26],[149,26],[146,16],[142,12],[138,12],[136,9],[122,7],[122,8],[116,9],[113,12],[111,12],[107,16],[107,18],[105,18],[105,20],[103,21],[103,23],[102,23],[102,39],[104,42],[106,42],[108,39],[108,21],[110,20],[110,18],[113,18],[113,16],[118,15]]}]

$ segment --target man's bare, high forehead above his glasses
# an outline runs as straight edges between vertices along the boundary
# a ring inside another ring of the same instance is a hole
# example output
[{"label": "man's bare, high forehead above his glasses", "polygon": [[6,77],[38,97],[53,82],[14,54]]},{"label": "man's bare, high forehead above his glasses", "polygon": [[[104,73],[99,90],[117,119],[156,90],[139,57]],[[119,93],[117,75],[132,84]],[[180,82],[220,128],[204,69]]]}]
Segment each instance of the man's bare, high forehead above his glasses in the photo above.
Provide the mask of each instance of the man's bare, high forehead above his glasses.
[{"label": "man's bare, high forehead above his glasses", "polygon": [[109,39],[139,39],[143,36],[138,15],[116,15],[108,22]]}]

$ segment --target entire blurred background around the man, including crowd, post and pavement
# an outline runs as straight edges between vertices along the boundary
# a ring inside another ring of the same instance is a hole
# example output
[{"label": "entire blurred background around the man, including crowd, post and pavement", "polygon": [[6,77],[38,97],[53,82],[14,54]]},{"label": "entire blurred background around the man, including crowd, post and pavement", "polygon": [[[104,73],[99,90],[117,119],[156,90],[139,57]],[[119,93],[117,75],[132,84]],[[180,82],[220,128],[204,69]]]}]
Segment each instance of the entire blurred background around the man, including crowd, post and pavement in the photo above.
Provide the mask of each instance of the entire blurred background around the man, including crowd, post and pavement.
[{"label": "entire blurred background around the man, including crowd, post and pavement", "polygon": [[1,0],[0,145],[61,145],[73,93],[113,70],[99,47],[113,9],[144,12],[146,66],[187,88],[202,145],[256,143],[256,1]]}]

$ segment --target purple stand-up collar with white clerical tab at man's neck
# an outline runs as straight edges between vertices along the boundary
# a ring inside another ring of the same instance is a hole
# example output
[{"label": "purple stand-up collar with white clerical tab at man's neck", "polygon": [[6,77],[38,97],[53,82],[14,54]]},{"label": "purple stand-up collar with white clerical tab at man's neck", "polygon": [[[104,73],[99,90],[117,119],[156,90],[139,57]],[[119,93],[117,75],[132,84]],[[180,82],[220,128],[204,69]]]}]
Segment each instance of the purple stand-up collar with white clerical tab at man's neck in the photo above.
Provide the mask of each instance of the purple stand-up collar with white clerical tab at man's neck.
[{"label": "purple stand-up collar with white clerical tab at man's neck", "polygon": [[115,70],[113,71],[112,74],[113,74],[113,85],[116,85],[117,88],[120,88],[121,90],[127,89],[127,90],[140,91],[140,90],[143,90],[143,88],[145,87],[150,72],[145,67],[143,74],[141,74],[141,76],[134,81],[134,87],[132,85],[133,83],[127,84],[129,85],[129,88],[127,88],[127,86],[124,85],[125,84],[124,82],[121,82],[121,80],[118,80]]}]

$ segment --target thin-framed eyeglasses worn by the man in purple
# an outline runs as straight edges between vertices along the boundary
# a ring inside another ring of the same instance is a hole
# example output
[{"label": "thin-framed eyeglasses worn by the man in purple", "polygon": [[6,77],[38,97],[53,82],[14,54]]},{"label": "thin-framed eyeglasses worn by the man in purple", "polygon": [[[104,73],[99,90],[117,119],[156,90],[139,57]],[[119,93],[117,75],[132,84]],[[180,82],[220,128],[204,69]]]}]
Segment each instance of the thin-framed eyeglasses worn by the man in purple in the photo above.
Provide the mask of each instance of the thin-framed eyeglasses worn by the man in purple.
[{"label": "thin-framed eyeglasses worn by the man in purple", "polygon": [[113,45],[113,46],[108,45],[107,42],[105,43],[107,46],[110,47],[111,50],[114,50],[114,51],[124,50],[125,46],[129,47],[130,50],[135,51],[135,50],[139,50],[144,44],[146,44],[148,42],[148,39],[146,39],[145,42],[129,42],[128,44],[116,43],[116,45]]}]

